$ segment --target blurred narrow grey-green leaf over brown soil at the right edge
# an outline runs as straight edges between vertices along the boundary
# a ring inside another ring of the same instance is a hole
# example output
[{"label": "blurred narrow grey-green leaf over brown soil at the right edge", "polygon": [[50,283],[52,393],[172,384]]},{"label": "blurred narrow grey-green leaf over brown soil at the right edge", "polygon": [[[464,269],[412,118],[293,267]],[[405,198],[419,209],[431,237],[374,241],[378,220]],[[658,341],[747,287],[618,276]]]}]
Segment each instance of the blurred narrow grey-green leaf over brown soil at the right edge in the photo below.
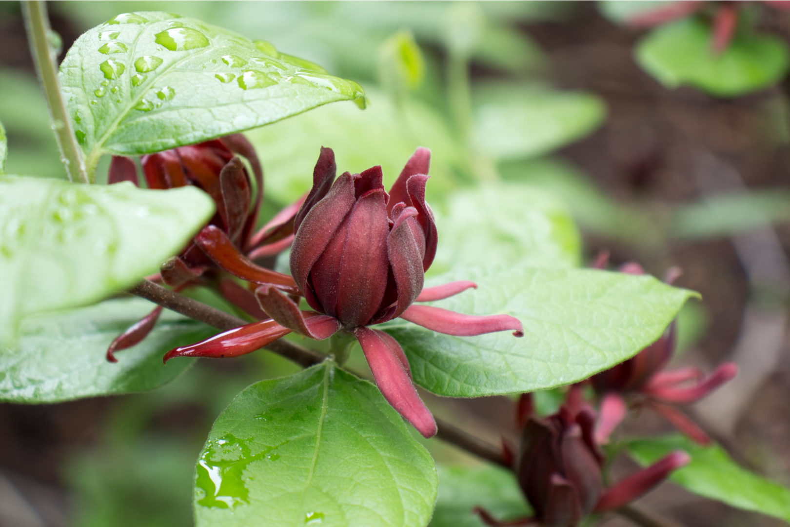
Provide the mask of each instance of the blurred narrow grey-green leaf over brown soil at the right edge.
[{"label": "blurred narrow grey-green leaf over brown soil at the right edge", "polygon": [[716,194],[672,210],[675,238],[728,236],[790,220],[790,192],[781,189]]}]

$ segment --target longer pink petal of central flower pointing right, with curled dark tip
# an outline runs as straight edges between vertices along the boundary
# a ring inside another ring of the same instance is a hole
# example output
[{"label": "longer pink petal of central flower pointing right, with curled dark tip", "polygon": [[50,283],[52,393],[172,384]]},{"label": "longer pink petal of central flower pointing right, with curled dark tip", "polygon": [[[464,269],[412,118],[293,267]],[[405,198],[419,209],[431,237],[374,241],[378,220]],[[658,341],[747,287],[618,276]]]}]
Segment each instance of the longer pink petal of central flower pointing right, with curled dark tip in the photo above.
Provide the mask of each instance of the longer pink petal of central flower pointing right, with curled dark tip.
[{"label": "longer pink petal of central flower pointing right, with curled dark tip", "polygon": [[513,336],[524,337],[524,327],[521,326],[521,322],[509,314],[478,317],[448,311],[441,307],[412,305],[401,314],[401,318],[414,322],[417,326],[458,337],[472,337],[508,329],[513,330]]}]

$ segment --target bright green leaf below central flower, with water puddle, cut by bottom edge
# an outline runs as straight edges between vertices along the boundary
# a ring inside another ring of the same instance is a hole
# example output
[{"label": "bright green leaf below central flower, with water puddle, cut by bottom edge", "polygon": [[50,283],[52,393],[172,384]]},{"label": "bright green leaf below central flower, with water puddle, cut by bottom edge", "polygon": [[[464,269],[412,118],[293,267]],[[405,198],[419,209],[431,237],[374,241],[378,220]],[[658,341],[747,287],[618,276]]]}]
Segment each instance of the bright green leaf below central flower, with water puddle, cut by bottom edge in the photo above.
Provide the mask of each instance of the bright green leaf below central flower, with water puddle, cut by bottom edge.
[{"label": "bright green leaf below central flower, with water puddle, cut by bottom edge", "polygon": [[258,382],[217,418],[198,460],[198,527],[419,527],[437,477],[370,382],[326,361]]}]

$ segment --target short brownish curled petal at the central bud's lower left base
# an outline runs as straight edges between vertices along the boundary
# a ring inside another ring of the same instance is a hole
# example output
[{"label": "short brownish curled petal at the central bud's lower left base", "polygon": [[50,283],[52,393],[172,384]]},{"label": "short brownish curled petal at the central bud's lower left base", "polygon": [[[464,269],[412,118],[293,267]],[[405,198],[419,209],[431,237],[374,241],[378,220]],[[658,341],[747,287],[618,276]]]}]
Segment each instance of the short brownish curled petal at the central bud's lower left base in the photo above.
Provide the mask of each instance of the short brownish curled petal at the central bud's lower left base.
[{"label": "short brownish curled petal at the central bud's lower left base", "polygon": [[340,322],[337,322],[337,318],[325,314],[314,315],[299,310],[299,306],[289,299],[288,295],[272,285],[262,285],[255,290],[255,296],[263,311],[280,326],[307,335],[307,337],[321,341],[331,337],[340,329]]}]

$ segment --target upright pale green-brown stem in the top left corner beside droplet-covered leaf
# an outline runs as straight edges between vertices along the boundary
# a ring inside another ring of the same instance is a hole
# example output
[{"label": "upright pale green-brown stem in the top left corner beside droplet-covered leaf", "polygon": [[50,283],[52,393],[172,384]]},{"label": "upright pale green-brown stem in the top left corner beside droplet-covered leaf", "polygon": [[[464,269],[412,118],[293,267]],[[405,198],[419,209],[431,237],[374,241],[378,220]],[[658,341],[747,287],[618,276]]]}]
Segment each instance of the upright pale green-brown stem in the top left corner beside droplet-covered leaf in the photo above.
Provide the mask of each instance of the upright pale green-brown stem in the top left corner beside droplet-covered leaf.
[{"label": "upright pale green-brown stem in the top left corner beside droplet-covered leaf", "polygon": [[52,131],[55,132],[55,138],[58,140],[60,159],[66,166],[66,174],[71,181],[90,183],[85,171],[82,150],[80,145],[77,145],[77,137],[74,136],[71,128],[71,121],[58,83],[58,58],[49,43],[51,29],[47,18],[47,6],[41,0],[25,0],[22,2],[22,13],[30,42],[30,52],[50,110]]}]

